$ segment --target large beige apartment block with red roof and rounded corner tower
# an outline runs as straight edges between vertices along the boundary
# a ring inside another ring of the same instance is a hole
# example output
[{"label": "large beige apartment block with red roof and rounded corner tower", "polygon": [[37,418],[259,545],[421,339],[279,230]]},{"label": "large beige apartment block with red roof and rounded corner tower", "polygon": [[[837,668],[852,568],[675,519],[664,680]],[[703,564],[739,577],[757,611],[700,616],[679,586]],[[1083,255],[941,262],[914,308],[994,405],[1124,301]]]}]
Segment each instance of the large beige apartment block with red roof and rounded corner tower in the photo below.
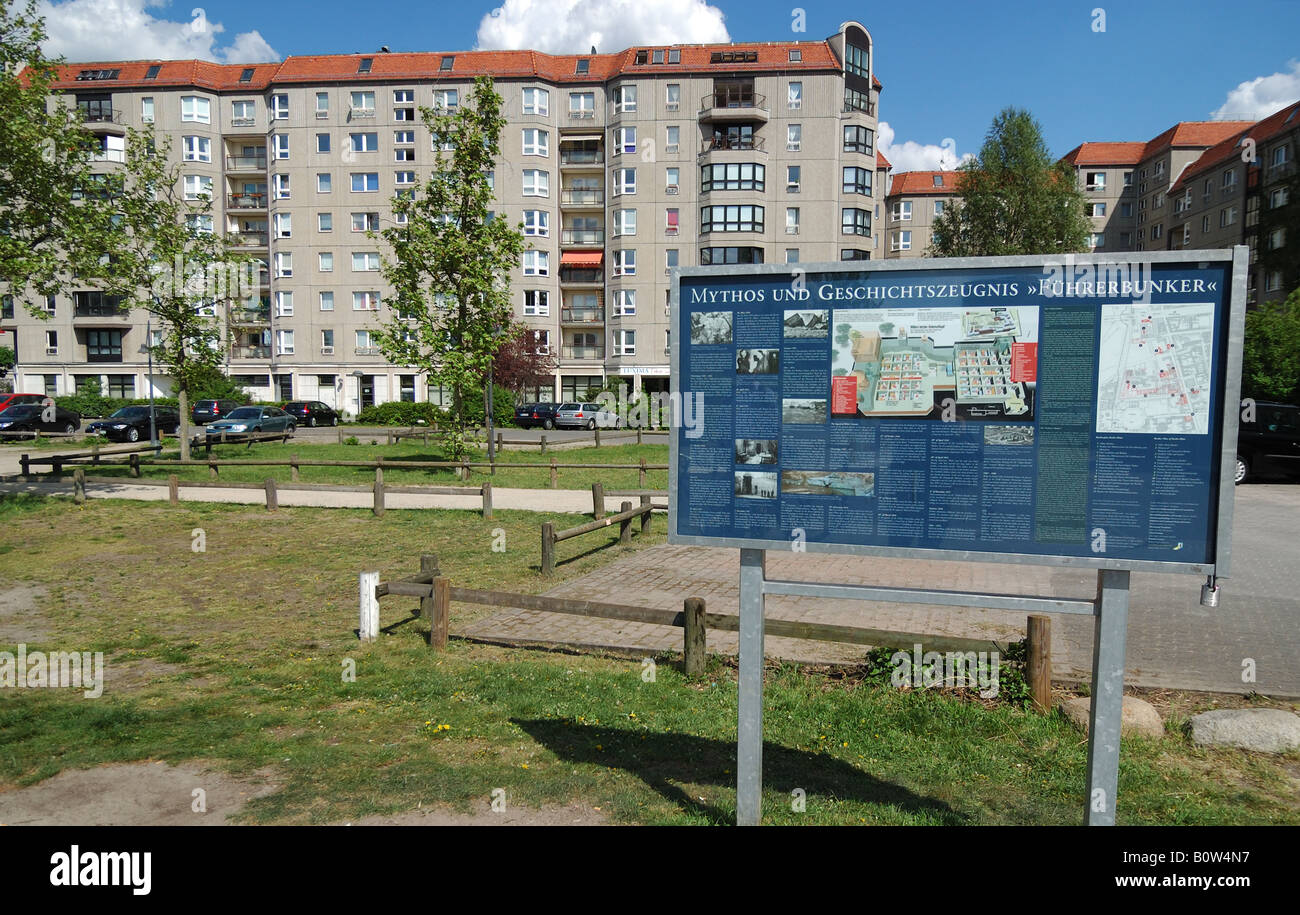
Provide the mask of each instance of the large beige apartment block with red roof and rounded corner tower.
[{"label": "large beige apartment block with red roof and rounded corner tower", "polygon": [[[173,140],[187,196],[213,198],[212,231],[264,265],[226,311],[226,370],[254,396],[318,399],[355,413],[438,400],[370,331],[386,316],[382,242],[391,199],[436,164],[420,108],[465,104],[478,75],[503,96],[494,216],[529,250],[511,274],[517,317],[554,354],[542,400],[621,378],[668,385],[673,266],[880,256],[888,166],[875,149],[880,83],[871,36],[628,48],[72,64],[56,84],[124,156],[126,127]],[[18,390],[65,394],[98,377],[140,396],[144,315],[74,290],[38,321],[12,298]],[[3,338],[0,338],[3,339]]]}]

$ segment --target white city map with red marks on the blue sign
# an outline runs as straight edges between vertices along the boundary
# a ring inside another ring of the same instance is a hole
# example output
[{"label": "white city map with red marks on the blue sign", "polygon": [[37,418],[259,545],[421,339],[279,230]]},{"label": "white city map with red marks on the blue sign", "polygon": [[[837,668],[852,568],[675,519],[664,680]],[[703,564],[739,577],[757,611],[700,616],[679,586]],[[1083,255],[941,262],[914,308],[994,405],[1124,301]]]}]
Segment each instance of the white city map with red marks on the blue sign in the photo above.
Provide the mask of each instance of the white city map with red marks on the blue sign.
[{"label": "white city map with red marks on the blue sign", "polygon": [[1209,434],[1213,304],[1101,308],[1097,432]]}]

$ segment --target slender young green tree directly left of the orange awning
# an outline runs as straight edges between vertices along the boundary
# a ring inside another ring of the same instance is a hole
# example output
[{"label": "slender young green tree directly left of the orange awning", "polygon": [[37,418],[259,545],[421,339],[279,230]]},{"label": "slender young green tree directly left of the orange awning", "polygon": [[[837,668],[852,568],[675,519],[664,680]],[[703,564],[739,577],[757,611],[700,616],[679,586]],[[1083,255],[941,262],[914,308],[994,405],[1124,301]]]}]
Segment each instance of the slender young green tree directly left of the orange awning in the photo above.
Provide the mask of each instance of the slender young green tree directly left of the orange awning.
[{"label": "slender young green tree directly left of the orange awning", "polygon": [[514,311],[510,270],[524,251],[519,227],[489,214],[502,97],[480,77],[467,101],[450,114],[420,109],[439,140],[437,165],[419,195],[394,198],[398,221],[382,237],[393,250],[384,277],[395,302],[374,334],[391,363],[413,365],[452,391],[447,446],[458,458],[469,425],[465,394],[484,387],[502,344]]}]

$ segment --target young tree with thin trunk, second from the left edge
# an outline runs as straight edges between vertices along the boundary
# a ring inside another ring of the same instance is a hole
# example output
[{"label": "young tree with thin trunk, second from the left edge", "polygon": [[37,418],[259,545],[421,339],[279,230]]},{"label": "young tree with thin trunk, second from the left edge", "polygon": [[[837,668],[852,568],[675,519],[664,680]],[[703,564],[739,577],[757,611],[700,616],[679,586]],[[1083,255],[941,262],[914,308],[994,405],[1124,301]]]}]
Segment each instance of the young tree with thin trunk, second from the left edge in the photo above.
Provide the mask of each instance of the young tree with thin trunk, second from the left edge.
[{"label": "young tree with thin trunk, second from the left edge", "polygon": [[100,283],[125,307],[148,312],[155,365],[172,376],[181,412],[181,456],[190,455],[190,395],[225,361],[221,316],[255,292],[252,264],[213,225],[212,198],[182,196],[170,140],[130,131],[126,165],[108,185],[117,214],[112,263]]}]

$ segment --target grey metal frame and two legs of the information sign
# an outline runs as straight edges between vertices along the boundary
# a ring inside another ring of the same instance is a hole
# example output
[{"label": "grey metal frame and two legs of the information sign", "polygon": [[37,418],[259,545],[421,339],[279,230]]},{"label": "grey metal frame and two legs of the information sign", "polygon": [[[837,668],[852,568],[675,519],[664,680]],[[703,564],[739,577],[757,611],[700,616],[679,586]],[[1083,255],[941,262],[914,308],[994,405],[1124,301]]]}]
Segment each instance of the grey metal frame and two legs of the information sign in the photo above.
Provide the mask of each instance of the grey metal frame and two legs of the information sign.
[{"label": "grey metal frame and two legs of the information sign", "polygon": [[[762,815],[763,785],[763,630],[764,598],[768,594],[896,603],[946,604],[1023,610],[1026,612],[1086,613],[1095,620],[1092,662],[1092,711],[1088,732],[1088,794],[1086,821],[1089,825],[1114,825],[1119,782],[1119,725],[1123,711],[1124,654],[1128,632],[1128,584],[1131,572],[1195,572],[1209,577],[1206,587],[1217,595],[1217,577],[1227,577],[1232,542],[1232,498],[1236,459],[1238,403],[1242,389],[1242,343],[1245,335],[1245,279],[1249,250],[1236,246],[1216,251],[1160,251],[1132,255],[1072,255],[1075,265],[1139,265],[1139,264],[1222,264],[1230,268],[1231,289],[1226,291],[1228,308],[1225,374],[1219,404],[1219,480],[1214,554],[1212,563],[1166,563],[1101,556],[1052,556],[1040,554],[1001,554],[957,550],[909,550],[902,547],[858,546],[807,542],[814,552],[841,552],[863,556],[906,556],[949,561],[989,561],[1035,565],[1063,565],[1097,569],[1097,591],[1093,599],[1031,597],[1023,594],[975,594],[904,587],[871,587],[807,581],[775,581],[767,578],[764,551],[789,550],[786,541],[731,537],[698,537],[677,533],[677,460],[679,430],[670,441],[668,538],[673,543],[740,548],[740,672],[738,729],[736,741],[736,821],[758,825]],[[1017,257],[950,257],[896,261],[842,261],[831,264],[751,264],[737,266],[675,268],[671,298],[671,372],[672,390],[680,391],[680,333],[682,277],[754,277],[767,274],[811,273],[885,273],[936,269],[1043,268],[1062,265],[1062,256]],[[1216,347],[1217,350],[1217,347]],[[1221,352],[1217,350],[1217,352]],[[1202,599],[1204,591],[1202,591]]]}]

